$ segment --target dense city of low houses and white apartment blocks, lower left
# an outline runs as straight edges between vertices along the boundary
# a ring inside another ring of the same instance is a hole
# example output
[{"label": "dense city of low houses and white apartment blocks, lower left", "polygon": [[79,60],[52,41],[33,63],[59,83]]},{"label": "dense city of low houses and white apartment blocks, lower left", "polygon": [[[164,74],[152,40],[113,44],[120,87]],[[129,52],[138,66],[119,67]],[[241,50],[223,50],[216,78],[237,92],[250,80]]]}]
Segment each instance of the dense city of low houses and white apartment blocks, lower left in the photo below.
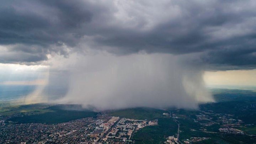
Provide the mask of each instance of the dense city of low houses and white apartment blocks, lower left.
[{"label": "dense city of low houses and white apartment blocks, lower left", "polygon": [[[17,114],[16,114],[17,115]],[[15,115],[15,116],[16,116]],[[13,123],[0,117],[0,143],[22,144],[105,144],[133,143],[133,134],[158,121],[136,120],[98,114],[97,118],[82,118],[58,124]]]}]

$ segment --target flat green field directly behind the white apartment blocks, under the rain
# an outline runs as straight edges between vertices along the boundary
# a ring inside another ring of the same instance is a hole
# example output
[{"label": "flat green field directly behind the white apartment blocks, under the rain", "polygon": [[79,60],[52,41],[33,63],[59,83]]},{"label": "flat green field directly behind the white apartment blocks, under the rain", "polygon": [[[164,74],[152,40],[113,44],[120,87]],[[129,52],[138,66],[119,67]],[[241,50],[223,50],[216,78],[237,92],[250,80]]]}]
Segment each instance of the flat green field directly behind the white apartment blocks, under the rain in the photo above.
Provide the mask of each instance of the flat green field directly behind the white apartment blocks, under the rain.
[{"label": "flat green field directly behind the white apartment blocks, under the rain", "polygon": [[164,118],[167,116],[164,116],[163,113],[168,113],[164,110],[159,110],[155,108],[128,108],[123,110],[116,110],[112,111],[109,114],[111,116],[117,116],[117,117],[124,117],[124,118],[131,118],[131,119],[148,119],[153,120],[156,118]]}]

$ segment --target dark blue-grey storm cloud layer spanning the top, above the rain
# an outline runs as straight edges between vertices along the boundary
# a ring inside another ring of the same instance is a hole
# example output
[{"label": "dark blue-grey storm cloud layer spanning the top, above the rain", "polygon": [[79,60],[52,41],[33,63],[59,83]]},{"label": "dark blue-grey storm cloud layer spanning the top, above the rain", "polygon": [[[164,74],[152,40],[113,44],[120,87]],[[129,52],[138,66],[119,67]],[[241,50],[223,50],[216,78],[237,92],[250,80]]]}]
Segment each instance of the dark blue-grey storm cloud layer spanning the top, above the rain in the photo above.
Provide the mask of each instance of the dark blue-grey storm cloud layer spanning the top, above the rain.
[{"label": "dark blue-grey storm cloud layer spanning the top, above the rain", "polygon": [[1,1],[0,45],[18,57],[0,60],[38,62],[86,46],[118,55],[200,53],[192,61],[212,69],[256,68],[255,6],[250,0]]}]

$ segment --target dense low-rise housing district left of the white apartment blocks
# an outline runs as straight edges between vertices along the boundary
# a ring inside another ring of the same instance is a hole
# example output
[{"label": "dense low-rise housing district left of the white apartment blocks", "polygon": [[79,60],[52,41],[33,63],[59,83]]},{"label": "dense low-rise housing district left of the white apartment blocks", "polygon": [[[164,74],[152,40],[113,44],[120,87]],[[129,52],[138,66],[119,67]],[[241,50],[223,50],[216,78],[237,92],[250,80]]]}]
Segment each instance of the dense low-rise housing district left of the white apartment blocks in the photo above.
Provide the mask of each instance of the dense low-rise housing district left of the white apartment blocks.
[{"label": "dense low-rise housing district left of the white apartment blocks", "polygon": [[99,118],[103,122],[111,119],[110,116],[103,115],[97,118],[82,118],[59,124],[9,123],[0,126],[0,143],[92,144],[96,140],[92,134],[97,131]]}]

